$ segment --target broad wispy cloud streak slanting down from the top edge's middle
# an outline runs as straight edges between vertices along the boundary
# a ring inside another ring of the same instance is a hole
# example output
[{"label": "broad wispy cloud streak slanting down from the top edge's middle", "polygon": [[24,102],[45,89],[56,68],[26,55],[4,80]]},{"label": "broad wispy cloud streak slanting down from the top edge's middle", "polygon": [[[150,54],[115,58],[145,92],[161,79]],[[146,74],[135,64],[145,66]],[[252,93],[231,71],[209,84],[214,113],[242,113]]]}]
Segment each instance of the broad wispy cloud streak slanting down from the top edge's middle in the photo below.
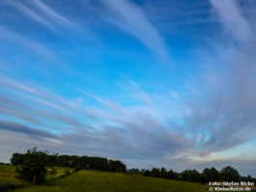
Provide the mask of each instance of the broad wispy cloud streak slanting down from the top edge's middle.
[{"label": "broad wispy cloud streak slanting down from the top edge's middle", "polygon": [[101,3],[110,14],[104,15],[106,21],[128,32],[165,61],[170,59],[163,38],[138,5],[125,0],[101,0]]}]

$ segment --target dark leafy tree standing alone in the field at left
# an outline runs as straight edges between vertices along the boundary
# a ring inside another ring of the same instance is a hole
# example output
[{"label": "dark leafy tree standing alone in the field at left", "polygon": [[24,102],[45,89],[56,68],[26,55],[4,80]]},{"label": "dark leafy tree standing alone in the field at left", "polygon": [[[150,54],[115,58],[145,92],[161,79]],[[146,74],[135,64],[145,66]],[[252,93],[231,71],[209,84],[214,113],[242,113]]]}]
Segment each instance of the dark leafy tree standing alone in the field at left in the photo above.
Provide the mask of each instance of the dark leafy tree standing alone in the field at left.
[{"label": "dark leafy tree standing alone in the field at left", "polygon": [[38,151],[37,148],[28,150],[22,157],[22,164],[17,167],[18,178],[34,184],[40,184],[45,180],[47,169],[51,166],[48,151]]}]

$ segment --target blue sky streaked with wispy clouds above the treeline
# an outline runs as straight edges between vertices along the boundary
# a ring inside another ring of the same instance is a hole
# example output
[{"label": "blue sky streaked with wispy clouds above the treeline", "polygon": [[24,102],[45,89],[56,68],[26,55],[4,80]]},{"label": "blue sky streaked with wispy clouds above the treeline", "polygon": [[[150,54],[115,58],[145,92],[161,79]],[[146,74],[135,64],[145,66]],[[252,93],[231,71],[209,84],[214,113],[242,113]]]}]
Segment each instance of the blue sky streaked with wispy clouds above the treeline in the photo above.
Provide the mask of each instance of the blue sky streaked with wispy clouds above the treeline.
[{"label": "blue sky streaked with wispy clouds above the treeline", "polygon": [[255,9],[0,1],[0,161],[38,147],[256,177]]}]

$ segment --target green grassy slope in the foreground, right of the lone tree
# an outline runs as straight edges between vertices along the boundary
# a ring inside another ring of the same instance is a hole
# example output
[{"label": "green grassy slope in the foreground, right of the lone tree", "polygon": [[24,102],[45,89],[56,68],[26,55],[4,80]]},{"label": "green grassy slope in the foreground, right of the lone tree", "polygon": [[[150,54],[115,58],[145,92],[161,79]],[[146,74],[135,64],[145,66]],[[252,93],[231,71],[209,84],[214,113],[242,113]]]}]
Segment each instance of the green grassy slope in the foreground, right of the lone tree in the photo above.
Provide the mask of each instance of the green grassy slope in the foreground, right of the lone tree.
[{"label": "green grassy slope in the foreground, right of the lone tree", "polygon": [[162,178],[144,178],[115,173],[81,171],[47,185],[29,186],[15,192],[203,192],[207,185]]}]

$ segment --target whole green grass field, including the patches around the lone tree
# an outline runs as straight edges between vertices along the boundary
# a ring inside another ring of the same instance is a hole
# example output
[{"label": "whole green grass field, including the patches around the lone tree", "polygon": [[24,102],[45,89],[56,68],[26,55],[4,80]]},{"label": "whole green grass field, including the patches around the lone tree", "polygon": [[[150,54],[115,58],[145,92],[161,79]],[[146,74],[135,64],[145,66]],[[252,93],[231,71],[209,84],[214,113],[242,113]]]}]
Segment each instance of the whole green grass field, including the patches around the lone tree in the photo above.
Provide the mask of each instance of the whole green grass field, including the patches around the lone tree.
[{"label": "whole green grass field, including the patches around the lone tree", "polygon": [[[67,177],[67,169],[58,168],[54,176],[47,177],[43,185],[32,186],[14,178],[13,166],[0,166],[0,186],[9,186],[10,192],[206,192],[208,185],[200,183],[145,178],[138,175],[80,171]],[[72,170],[70,170],[72,171]],[[56,178],[56,179],[54,179]],[[12,185],[13,184],[13,185]],[[10,187],[11,186],[11,187]],[[12,187],[13,186],[13,187]],[[6,188],[7,189],[7,188]],[[0,191],[6,191],[0,188]]]}]

